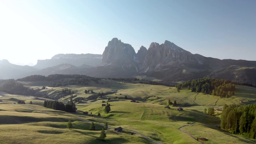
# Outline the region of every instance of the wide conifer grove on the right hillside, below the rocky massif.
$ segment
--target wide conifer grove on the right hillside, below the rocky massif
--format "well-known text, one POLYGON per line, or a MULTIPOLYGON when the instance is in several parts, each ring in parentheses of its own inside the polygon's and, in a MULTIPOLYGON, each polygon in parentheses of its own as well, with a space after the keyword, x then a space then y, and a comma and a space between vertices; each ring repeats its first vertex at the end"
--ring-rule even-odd
POLYGON ((176 85, 176 88, 191 89, 192 92, 202 92, 204 94, 212 94, 214 96, 227 97, 234 95, 236 87, 230 80, 214 79, 214 78, 200 78, 197 80, 188 80, 182 84, 176 85), (233 91, 231 93, 231 91, 233 91))

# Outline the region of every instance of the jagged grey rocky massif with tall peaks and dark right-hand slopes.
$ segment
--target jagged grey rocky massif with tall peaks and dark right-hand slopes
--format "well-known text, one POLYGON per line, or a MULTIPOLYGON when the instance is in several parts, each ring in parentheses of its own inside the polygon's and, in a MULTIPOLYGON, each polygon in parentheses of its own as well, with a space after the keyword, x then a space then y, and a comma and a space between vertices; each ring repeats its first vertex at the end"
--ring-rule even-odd
POLYGON ((98 73, 93 76, 146 75, 167 83, 204 77, 256 82, 256 76, 251 74, 256 69, 255 61, 206 58, 200 54, 191 54, 167 40, 164 44, 152 42, 148 50, 141 46, 136 54, 130 44, 113 38, 105 48, 101 65, 101 70, 97 70, 98 73))

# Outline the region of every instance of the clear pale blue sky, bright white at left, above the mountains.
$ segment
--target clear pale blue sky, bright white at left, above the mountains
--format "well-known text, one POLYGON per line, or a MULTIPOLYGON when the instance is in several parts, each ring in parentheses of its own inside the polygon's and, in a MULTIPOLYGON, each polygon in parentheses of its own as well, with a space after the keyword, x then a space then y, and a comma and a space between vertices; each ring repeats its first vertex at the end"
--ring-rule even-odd
POLYGON ((135 52, 168 40, 192 54, 256 61, 256 1, 0 0, 0 60, 102 54, 112 38, 135 52))

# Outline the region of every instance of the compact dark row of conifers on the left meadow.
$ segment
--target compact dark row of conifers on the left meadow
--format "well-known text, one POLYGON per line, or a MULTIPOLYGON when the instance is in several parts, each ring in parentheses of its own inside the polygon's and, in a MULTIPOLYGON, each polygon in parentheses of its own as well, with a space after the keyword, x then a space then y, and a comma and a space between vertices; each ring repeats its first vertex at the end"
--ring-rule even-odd
POLYGON ((52 108, 54 110, 61 110, 65 112, 76 112, 76 105, 73 102, 68 104, 63 104, 62 102, 49 100, 49 101, 44 101, 44 107, 52 108))

